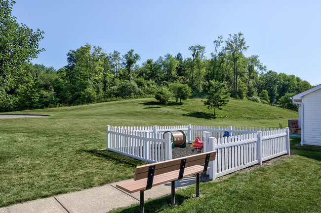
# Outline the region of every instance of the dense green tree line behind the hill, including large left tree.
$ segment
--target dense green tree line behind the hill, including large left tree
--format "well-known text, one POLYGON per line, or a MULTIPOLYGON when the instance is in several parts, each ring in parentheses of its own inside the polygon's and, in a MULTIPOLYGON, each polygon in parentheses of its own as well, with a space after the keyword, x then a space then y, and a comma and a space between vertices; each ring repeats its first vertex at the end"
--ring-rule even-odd
POLYGON ((205 57, 205 46, 198 44, 187 47, 190 55, 186 57, 168 53, 139 63, 141 57, 133 49, 121 55, 117 50, 105 53, 99 46, 85 44, 70 50, 66 65, 58 70, 31 64, 43 51, 38 50, 43 32, 19 26, 11 16, 13 3, 1 0, 1 112, 154 95, 165 90, 172 91, 177 102, 178 88, 205 96, 215 82, 223 84, 231 97, 295 110, 289 97, 311 88, 294 75, 268 71, 257 55, 246 57, 249 46, 241 32, 226 39, 218 36, 209 58, 205 57))

